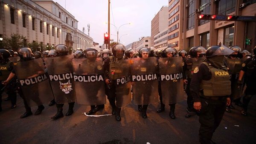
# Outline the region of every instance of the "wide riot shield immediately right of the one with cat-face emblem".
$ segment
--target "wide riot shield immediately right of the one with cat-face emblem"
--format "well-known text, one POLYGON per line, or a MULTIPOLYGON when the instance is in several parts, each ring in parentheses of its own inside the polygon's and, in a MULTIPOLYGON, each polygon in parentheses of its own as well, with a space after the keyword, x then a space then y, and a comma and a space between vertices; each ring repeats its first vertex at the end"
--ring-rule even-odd
POLYGON ((84 105, 106 103, 102 58, 73 58, 76 101, 84 105))

